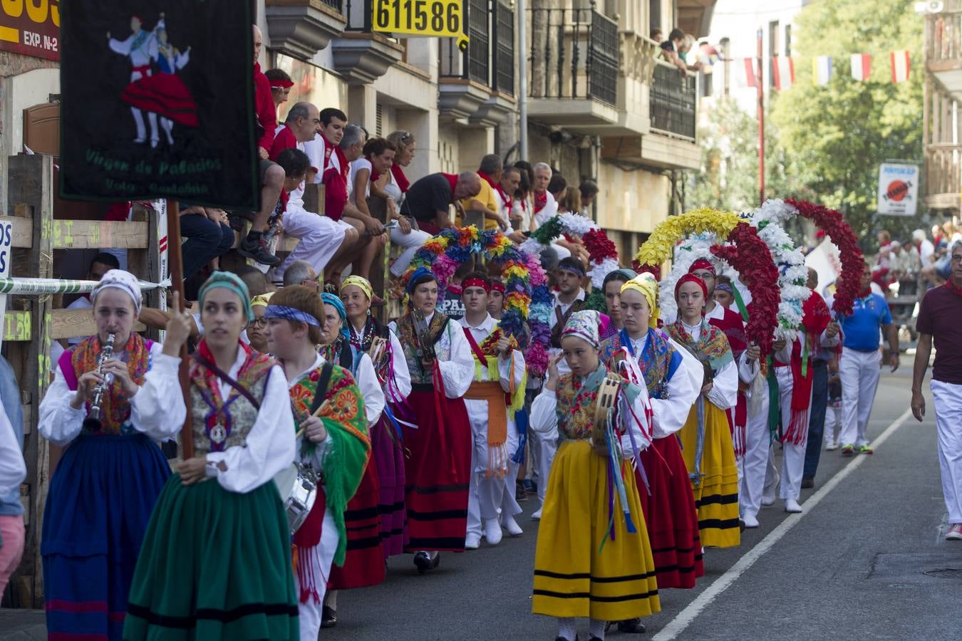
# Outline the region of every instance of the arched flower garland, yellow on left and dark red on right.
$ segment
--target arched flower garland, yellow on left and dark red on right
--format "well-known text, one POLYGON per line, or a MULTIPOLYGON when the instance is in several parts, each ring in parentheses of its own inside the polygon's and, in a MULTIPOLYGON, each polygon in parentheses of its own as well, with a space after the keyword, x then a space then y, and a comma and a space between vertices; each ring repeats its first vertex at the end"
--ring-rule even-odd
MULTIPOLYGON (((776 285, 777 270, 766 243, 736 214, 700 209, 672 216, 660 223, 638 250, 636 258, 642 266, 660 265, 671 258, 675 243, 687 234, 715 234, 726 243, 733 243, 732 246, 715 244, 710 251, 725 259, 740 274, 751 274, 747 286, 751 294, 752 314, 747 334, 758 340, 763 353, 770 352, 772 333, 777 325, 780 293, 776 285)), ((674 296, 673 289, 668 296, 674 296)), ((667 298, 663 297, 663 300, 667 298)))

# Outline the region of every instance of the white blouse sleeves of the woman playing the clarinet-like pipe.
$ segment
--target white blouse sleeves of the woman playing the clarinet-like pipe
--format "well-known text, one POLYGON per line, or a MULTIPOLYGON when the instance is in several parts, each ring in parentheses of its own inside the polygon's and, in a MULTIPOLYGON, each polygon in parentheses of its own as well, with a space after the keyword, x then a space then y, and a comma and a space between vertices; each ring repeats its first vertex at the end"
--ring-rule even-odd
MULTIPOLYGON (((130 400, 130 423, 155 441, 173 438, 184 427, 187 407, 181 392, 177 368, 180 358, 164 354, 164 346, 150 346, 150 365, 143 384, 130 400)), ((75 392, 71 391, 57 368, 54 382, 40 402, 38 430, 48 441, 63 447, 80 435, 87 418, 87 407, 70 407, 75 392)))

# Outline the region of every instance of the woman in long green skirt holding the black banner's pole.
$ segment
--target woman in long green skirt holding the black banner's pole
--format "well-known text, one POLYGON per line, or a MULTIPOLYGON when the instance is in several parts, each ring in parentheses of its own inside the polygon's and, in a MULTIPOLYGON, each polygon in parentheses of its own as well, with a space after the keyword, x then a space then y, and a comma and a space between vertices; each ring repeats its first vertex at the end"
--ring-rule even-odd
POLYGON ((200 290, 190 363, 194 456, 151 516, 124 639, 298 639, 291 531, 274 476, 294 459, 287 379, 240 342, 247 287, 215 272, 200 290))

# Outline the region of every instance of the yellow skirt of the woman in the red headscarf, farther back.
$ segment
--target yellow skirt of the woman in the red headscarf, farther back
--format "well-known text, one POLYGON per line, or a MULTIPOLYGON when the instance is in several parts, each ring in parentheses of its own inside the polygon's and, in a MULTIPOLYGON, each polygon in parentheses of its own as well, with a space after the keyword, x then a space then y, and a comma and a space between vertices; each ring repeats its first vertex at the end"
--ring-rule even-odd
MULTIPOLYGON (((731 431, 724 410, 708 400, 705 404, 705 439, 701 455, 701 476, 692 479, 692 492, 698 511, 701 545, 732 548, 741 543, 738 527, 738 466, 731 431)), ((688 414, 685 426, 678 431, 681 454, 689 474, 695 473, 698 437, 697 405, 688 414)))

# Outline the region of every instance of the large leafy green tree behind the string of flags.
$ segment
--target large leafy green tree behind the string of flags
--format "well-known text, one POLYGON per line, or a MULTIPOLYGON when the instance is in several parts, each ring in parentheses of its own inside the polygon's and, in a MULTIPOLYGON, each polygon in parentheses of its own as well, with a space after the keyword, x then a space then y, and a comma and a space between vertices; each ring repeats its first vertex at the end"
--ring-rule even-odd
POLYGON ((793 177, 790 192, 845 213, 874 249, 875 232, 905 237, 917 218, 879 216, 878 164, 923 158, 922 16, 895 0, 813 2, 797 15, 797 85, 772 100, 772 120, 793 177), (909 80, 892 83, 889 53, 908 49, 909 80), (868 82, 851 77, 851 54, 872 54, 868 82), (831 56, 834 75, 811 82, 815 56, 831 56), (804 192, 808 193, 804 193, 804 192))

